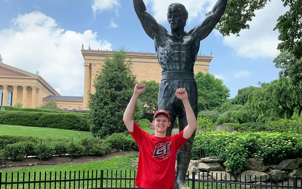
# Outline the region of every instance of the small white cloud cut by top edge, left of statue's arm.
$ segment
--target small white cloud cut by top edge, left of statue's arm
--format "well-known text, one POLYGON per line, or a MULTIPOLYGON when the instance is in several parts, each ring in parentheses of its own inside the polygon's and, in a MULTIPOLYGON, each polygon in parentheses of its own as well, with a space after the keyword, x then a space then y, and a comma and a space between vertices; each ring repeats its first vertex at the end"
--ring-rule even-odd
MULTIPOLYGON (((119 0, 93 0, 93 3, 91 5, 93 14, 96 15, 98 13, 101 13, 102 11, 109 9, 112 10, 113 8, 116 7, 121 7, 121 3, 119 0)), ((116 11, 117 9, 115 9, 115 13, 118 15, 118 11, 116 11)))

